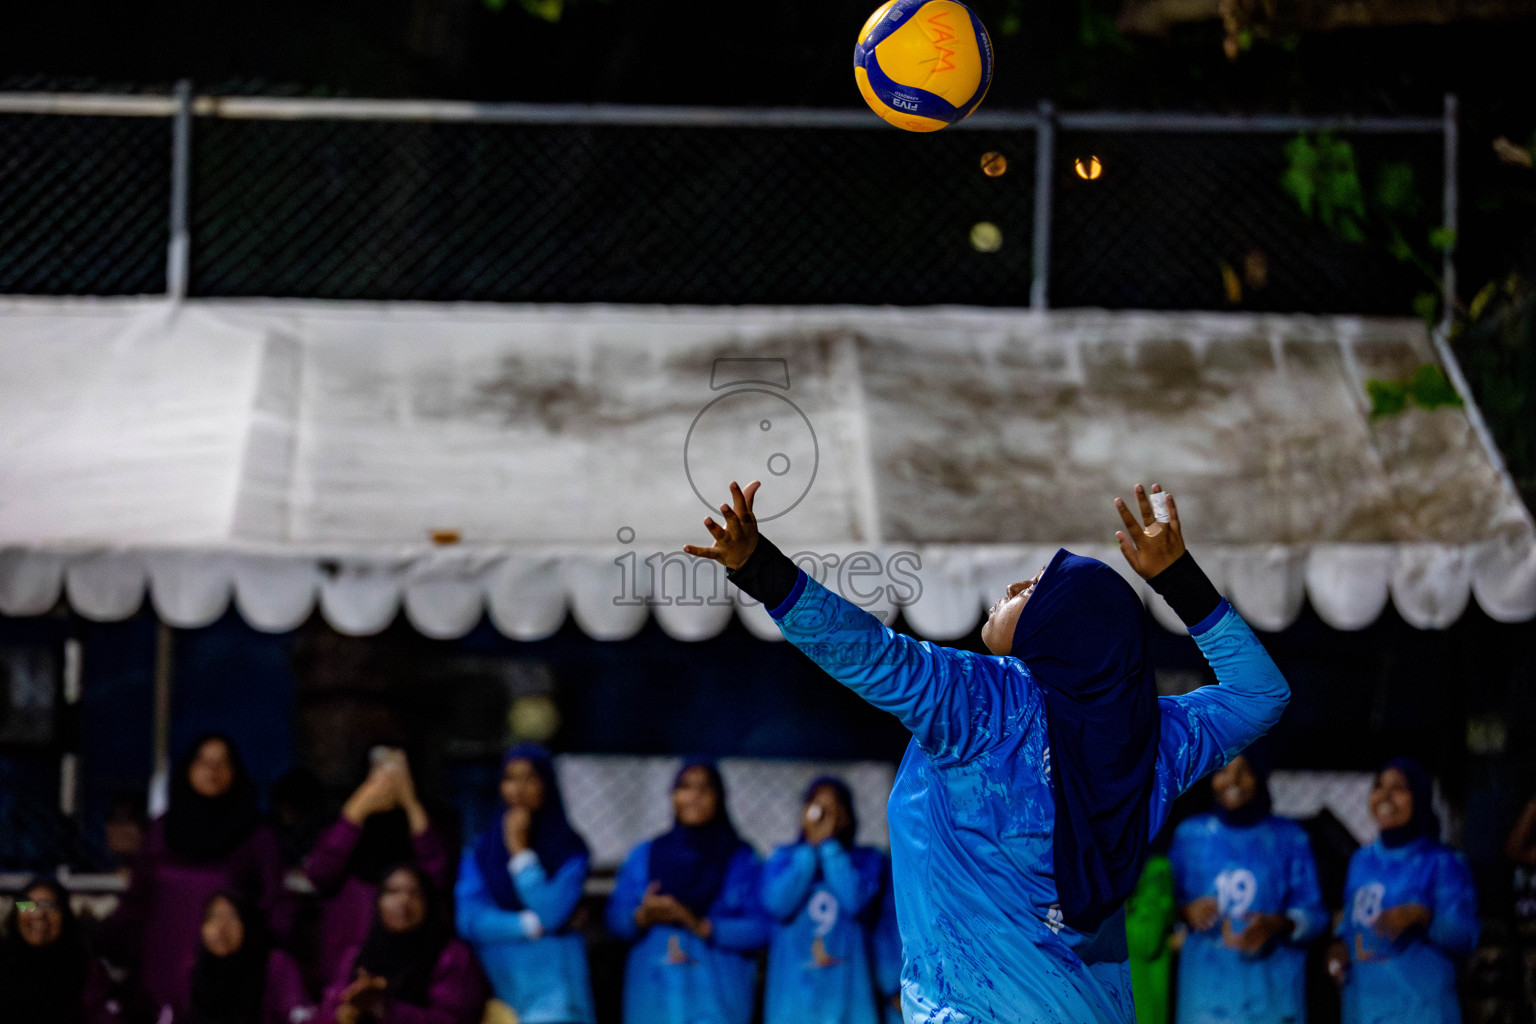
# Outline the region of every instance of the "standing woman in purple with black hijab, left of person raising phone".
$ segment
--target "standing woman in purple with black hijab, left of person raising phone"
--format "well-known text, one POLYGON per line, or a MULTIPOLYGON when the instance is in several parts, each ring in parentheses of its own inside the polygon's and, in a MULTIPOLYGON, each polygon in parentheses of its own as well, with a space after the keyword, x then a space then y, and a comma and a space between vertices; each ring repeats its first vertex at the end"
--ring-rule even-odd
POLYGON ((255 783, 227 737, 204 735, 177 766, 170 806, 101 927, 103 952, 137 970, 154 1006, 189 1009, 203 913, 217 892, 247 900, 267 926, 284 917, 283 861, 255 783))

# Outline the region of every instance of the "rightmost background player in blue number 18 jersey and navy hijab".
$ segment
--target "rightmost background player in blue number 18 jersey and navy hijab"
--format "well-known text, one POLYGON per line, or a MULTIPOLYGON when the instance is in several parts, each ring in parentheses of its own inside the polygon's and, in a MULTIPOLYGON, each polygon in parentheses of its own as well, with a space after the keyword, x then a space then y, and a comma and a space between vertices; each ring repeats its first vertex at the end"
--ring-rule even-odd
POLYGON ((1465 861, 1439 841, 1432 789, 1405 757, 1387 761, 1370 789, 1381 837, 1349 861, 1329 950, 1344 1024, 1461 1024, 1456 975, 1478 946, 1478 900, 1465 861))

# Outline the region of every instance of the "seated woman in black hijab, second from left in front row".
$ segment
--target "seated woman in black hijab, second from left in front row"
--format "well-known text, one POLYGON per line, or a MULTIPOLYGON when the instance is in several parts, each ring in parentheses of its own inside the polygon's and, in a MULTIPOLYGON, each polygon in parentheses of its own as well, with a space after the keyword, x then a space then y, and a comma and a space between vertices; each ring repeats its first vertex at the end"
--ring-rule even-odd
POLYGON ((203 933, 192 966, 192 1006, 184 1019, 189 1024, 304 1024, 312 1016, 315 1006, 304 990, 298 964, 281 949, 272 949, 261 915, 237 895, 215 894, 203 912, 203 933))

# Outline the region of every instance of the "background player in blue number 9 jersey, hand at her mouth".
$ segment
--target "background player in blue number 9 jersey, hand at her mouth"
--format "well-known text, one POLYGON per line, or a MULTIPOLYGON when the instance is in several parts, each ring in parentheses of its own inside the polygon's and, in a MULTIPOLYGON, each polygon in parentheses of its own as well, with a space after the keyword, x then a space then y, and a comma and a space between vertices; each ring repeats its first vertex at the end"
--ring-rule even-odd
POLYGON ((879 915, 885 857, 854 846, 848 785, 822 775, 805 789, 800 838, 763 866, 768 947, 766 1024, 877 1024, 869 927, 879 915), (871 906, 872 904, 872 906, 871 906))

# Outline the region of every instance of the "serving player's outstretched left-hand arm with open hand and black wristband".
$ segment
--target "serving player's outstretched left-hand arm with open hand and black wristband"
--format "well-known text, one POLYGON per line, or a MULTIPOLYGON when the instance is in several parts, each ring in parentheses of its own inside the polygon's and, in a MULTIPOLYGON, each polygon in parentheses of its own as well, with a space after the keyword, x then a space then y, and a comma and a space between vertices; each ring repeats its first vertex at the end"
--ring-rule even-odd
POLYGON ((889 711, 931 757, 962 758, 997 738, 989 723, 1031 703, 1028 680, 1008 685, 997 659, 914 640, 828 591, 757 534, 753 499, 759 484, 731 484, 720 517, 703 520, 708 548, 684 551, 713 559, 730 579, 763 602, 786 640, 828 676, 889 711))

